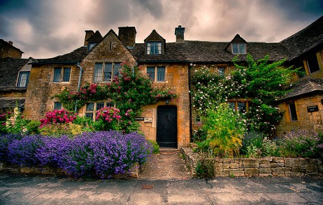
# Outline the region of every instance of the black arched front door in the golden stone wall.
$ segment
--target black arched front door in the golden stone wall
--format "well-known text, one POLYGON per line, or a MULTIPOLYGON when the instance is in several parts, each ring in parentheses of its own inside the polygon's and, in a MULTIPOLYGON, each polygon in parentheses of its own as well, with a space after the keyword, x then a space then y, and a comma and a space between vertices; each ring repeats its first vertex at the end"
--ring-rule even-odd
POLYGON ((177 148, 177 108, 157 107, 157 143, 160 147, 177 148))

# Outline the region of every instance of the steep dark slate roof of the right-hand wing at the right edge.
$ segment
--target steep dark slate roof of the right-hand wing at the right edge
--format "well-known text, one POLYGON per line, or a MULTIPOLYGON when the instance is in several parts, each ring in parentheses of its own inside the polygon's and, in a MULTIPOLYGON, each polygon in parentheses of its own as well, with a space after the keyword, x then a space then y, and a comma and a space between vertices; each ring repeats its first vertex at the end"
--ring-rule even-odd
POLYGON ((289 58, 294 59, 303 53, 323 44, 323 16, 311 25, 289 36, 281 43, 287 48, 289 58))

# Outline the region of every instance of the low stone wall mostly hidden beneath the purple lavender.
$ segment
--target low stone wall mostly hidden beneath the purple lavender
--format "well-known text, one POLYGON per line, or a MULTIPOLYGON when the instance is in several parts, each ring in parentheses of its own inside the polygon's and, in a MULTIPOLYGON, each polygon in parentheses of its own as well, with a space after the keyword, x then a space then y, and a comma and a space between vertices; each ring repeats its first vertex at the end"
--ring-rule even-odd
MULTIPOLYGON (((130 168, 128 174, 115 174, 112 175, 112 178, 138 178, 140 172, 139 163, 135 163, 130 168)), ((0 173, 14 173, 14 174, 32 174, 32 175, 49 175, 49 176, 69 176, 62 169, 53 169, 53 168, 39 168, 39 167, 19 167, 19 166, 10 166, 0 163, 0 173)))

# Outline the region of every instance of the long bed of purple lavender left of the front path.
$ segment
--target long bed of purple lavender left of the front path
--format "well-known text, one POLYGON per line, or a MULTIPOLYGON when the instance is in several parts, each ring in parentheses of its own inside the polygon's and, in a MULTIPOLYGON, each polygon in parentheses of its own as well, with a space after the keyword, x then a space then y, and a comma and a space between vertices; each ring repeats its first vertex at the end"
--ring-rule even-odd
POLYGON ((16 166, 20 172, 38 172, 21 169, 36 167, 58 169, 75 178, 110 178, 115 174, 128 174, 135 164, 145 163, 151 153, 152 146, 138 133, 83 133, 73 139, 67 136, 0 135, 0 162, 16 166))

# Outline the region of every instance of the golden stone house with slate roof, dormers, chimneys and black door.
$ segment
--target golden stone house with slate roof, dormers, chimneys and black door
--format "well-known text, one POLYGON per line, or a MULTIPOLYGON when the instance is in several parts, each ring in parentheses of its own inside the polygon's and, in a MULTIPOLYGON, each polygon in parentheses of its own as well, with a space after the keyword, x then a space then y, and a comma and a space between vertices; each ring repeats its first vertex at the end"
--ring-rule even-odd
MULTIPOLYGON (((304 70, 311 78, 301 79, 294 94, 292 92, 279 101, 285 120, 282 120, 278 131, 282 133, 296 124, 302 124, 301 118, 298 118, 297 123, 289 124, 287 117, 288 107, 295 107, 298 116, 304 113, 300 103, 305 109, 310 107, 311 111, 307 115, 313 116, 304 118, 304 121, 311 121, 313 124, 304 128, 313 127, 318 130, 322 127, 323 110, 322 21, 323 16, 286 40, 274 43, 248 42, 239 34, 230 42, 184 40, 184 27, 181 26, 175 29, 176 42, 167 42, 153 30, 144 43, 140 44, 135 42, 135 27, 119 27, 119 35, 110 30, 104 37, 99 31, 86 31, 84 46, 65 55, 38 59, 32 63, 24 114, 34 120, 42 118, 47 111, 62 107, 59 100, 52 97, 66 87, 70 91, 76 91, 80 77, 80 86, 86 82, 104 85, 117 74, 121 62, 128 61, 131 65, 140 66, 141 72, 154 81, 154 86, 168 88, 178 95, 171 102, 160 101, 156 105, 144 107, 143 114, 139 117, 144 118, 141 121, 141 131, 148 139, 156 140, 160 146, 179 148, 189 143, 190 132, 200 124, 200 119, 191 109, 191 64, 213 66, 215 72, 228 74, 234 69, 233 57, 239 54, 239 59, 244 61, 246 54, 250 53, 256 60, 270 55, 270 61, 286 58, 290 65, 303 63, 304 70), (310 85, 313 87, 308 90, 310 85), (291 99, 298 98, 302 100, 297 101, 294 107, 289 104, 291 99), (307 99, 311 99, 311 102, 307 99), (314 125, 314 122, 318 123, 314 125)), ((78 114, 94 118, 95 111, 110 105, 109 103, 104 99, 88 102, 78 110, 78 114)), ((230 103, 237 108, 248 107, 248 99, 232 99, 230 103)), ((295 112, 292 113, 294 115, 295 112)))

